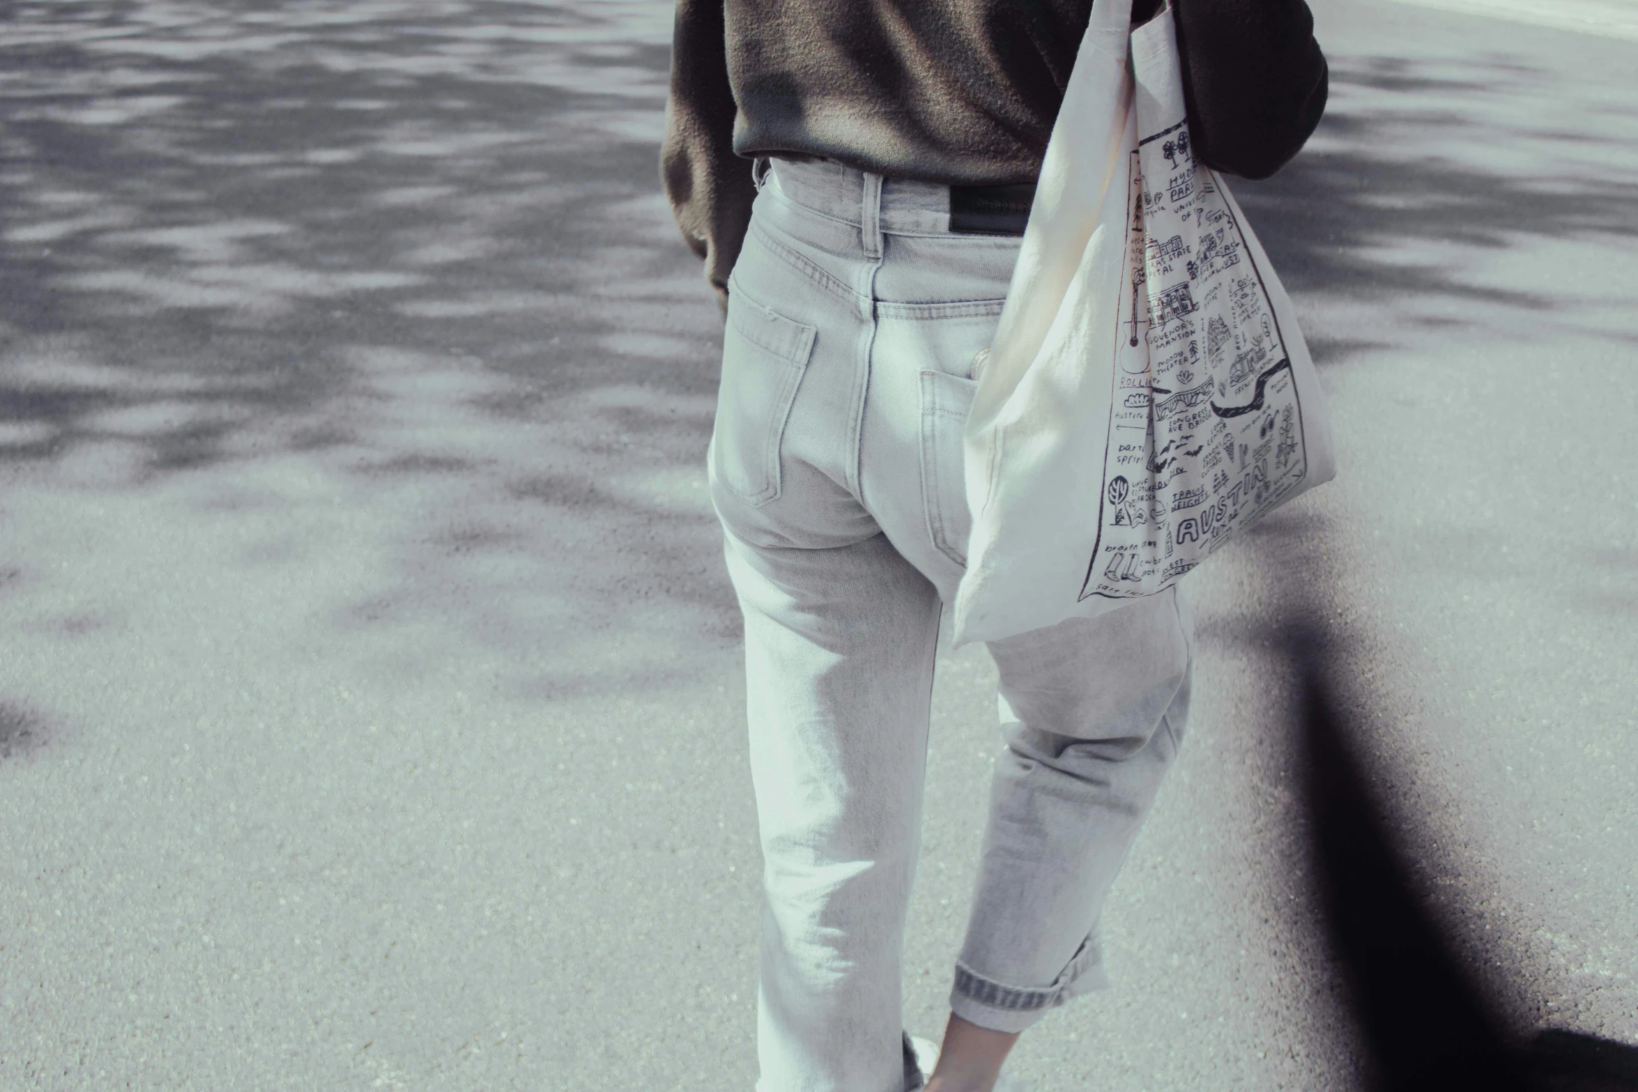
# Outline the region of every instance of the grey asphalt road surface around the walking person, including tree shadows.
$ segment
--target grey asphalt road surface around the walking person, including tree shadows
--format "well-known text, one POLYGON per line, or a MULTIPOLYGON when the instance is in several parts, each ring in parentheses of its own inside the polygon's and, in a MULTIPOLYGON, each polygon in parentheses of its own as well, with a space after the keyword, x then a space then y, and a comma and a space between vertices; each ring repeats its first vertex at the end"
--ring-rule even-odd
MULTIPOLYGON (((1638 1043, 1638 43, 1320 0, 1238 187, 1335 485, 1189 584, 1189 742, 1038 1092, 1330 1090, 1283 622, 1471 971, 1638 1043)), ((649 0, 0 13, 0 1089, 749 1092, 755 814, 649 0)), ((940 663, 906 1020, 999 747, 940 663)))

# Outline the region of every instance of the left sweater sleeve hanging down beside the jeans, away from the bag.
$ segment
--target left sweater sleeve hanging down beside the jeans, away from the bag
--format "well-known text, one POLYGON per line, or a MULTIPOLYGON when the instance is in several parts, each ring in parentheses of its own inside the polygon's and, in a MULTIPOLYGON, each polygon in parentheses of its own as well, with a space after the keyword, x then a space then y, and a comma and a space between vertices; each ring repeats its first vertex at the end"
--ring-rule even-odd
POLYGON ((745 241, 757 187, 750 162, 734 154, 737 108, 722 3, 676 0, 660 177, 683 239, 706 260, 706 280, 727 306, 727 275, 745 241))

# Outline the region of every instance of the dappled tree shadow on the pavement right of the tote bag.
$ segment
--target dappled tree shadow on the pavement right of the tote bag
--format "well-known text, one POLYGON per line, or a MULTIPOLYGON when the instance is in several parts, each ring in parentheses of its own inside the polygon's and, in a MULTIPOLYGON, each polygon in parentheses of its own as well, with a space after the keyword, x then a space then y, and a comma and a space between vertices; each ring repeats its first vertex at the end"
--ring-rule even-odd
MULTIPOLYGON (((1343 54, 1330 82, 1309 147, 1273 178, 1230 182, 1296 298, 1346 301, 1378 323, 1399 305, 1409 319, 1346 334, 1317 323, 1317 363, 1430 326, 1532 329, 1569 323, 1556 313, 1576 303, 1638 303, 1612 296, 1597 270, 1545 285, 1482 270, 1509 250, 1638 239, 1627 157, 1638 108, 1620 88, 1484 54, 1343 54)), ((1590 326, 1631 337, 1615 316, 1590 326)))

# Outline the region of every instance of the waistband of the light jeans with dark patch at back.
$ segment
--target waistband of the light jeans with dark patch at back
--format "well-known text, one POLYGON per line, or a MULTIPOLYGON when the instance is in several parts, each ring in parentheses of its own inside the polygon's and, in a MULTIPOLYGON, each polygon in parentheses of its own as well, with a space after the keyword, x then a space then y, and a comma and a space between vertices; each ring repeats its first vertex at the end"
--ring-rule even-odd
POLYGON ((883 178, 829 159, 757 160, 757 177, 768 164, 780 192, 801 205, 848 224, 875 221, 881 231, 903 234, 1022 236, 1034 185, 952 187, 937 182, 883 178))

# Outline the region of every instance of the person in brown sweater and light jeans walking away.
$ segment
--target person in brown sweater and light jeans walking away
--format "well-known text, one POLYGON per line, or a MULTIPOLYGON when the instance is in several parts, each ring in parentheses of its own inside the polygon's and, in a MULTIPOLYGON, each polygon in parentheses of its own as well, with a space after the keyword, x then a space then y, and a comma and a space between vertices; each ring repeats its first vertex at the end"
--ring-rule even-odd
MULTIPOLYGON (((1307 7, 1173 5, 1192 154, 1271 175, 1325 106, 1307 7)), ((924 1087, 901 964, 962 429, 1089 11, 676 5, 662 177, 726 313, 708 473, 745 617, 758 1092, 924 1087)), ((1025 1028, 1107 982, 1104 897, 1188 720, 1176 589, 989 652, 1006 747, 929 1092, 989 1092, 1025 1028)))

